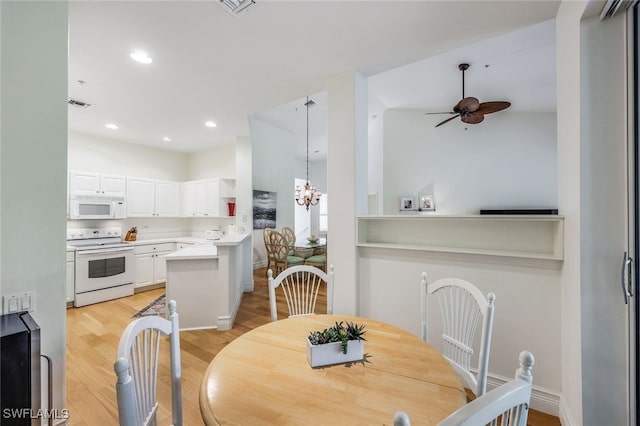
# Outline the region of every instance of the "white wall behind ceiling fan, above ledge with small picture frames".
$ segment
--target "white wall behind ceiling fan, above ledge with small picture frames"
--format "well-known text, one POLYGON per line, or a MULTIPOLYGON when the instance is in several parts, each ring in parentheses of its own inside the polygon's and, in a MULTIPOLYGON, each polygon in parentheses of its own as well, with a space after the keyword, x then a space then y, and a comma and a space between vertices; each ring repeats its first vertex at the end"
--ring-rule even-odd
POLYGON ((384 214, 399 197, 432 193, 438 214, 481 208, 557 208, 556 116, 491 114, 478 125, 423 110, 384 113, 384 214))

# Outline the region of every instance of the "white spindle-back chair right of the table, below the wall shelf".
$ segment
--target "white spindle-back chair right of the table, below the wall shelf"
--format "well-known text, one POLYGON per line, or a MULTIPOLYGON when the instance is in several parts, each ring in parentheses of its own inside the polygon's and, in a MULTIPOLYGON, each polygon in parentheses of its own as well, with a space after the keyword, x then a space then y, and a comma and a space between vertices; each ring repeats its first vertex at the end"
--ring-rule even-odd
POLYGON ((473 284, 459 278, 442 278, 427 284, 427 274, 422 273, 422 338, 429 341, 428 296, 436 294, 442 316, 442 354, 449 360, 476 397, 487 389, 491 332, 495 294, 487 297, 473 284), (480 352, 477 374, 471 370, 473 340, 479 321, 482 320, 480 352))

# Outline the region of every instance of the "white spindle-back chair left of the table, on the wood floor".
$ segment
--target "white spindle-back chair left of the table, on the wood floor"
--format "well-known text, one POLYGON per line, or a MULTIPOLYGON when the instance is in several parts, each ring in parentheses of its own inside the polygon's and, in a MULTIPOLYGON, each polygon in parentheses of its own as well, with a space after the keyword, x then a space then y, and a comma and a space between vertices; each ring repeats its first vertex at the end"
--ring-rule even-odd
POLYGON ((176 302, 169 301, 169 319, 147 316, 133 320, 120 336, 114 370, 120 426, 157 424, 160 340, 169 336, 172 425, 182 425, 180 332, 176 302))

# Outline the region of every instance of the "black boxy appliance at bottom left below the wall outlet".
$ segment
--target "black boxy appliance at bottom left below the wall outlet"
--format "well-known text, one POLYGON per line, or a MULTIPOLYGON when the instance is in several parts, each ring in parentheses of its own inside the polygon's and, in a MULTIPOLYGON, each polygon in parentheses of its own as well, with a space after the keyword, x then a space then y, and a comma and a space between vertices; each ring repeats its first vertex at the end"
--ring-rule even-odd
POLYGON ((0 423, 30 426, 40 409, 40 327, 28 312, 2 315, 0 339, 0 423))

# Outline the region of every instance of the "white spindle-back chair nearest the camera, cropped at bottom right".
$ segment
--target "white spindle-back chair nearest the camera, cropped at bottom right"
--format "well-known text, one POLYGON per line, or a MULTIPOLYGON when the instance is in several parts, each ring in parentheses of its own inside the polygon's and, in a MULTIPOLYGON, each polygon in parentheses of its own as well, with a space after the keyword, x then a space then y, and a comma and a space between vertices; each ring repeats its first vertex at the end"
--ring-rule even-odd
MULTIPOLYGON (((459 408, 438 426, 526 426, 531 401, 534 358, 531 352, 520 352, 520 367, 514 380, 474 399, 459 408)), ((409 426, 409 416, 398 411, 393 416, 394 426, 409 426)))

